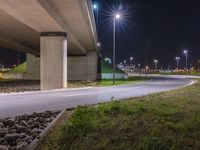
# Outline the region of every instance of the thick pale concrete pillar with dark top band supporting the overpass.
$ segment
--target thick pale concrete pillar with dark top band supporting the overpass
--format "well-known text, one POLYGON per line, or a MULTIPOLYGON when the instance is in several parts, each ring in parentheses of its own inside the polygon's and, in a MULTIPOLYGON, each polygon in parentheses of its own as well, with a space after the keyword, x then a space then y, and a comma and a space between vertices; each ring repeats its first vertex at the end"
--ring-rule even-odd
POLYGON ((64 32, 40 35, 41 90, 67 87, 67 38, 64 32))

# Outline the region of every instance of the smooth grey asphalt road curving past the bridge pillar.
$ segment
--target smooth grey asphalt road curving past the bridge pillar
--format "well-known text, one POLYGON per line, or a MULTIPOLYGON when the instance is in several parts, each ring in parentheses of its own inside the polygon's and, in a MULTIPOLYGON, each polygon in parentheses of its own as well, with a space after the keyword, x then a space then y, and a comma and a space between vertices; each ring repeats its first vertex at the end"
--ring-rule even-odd
POLYGON ((121 86, 0 94, 0 118, 96 104, 110 101, 113 96, 115 99, 143 96, 190 84, 192 84, 192 81, 189 79, 159 77, 121 86))

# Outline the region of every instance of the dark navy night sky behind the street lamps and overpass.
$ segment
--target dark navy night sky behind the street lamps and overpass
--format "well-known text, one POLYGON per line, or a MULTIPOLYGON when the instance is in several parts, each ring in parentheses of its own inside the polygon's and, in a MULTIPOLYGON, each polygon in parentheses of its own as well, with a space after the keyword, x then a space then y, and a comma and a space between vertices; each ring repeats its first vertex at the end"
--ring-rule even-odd
MULTIPOLYGON (((175 66, 175 56, 185 59, 182 50, 189 50, 189 62, 200 59, 200 2, 194 0, 94 0, 99 5, 99 39, 104 57, 112 56, 111 12, 119 9, 124 19, 117 25, 117 63, 134 57, 135 63, 148 65, 159 60, 160 67, 175 66), (146 42, 146 41, 149 42, 146 42)), ((21 54, 22 55, 22 54, 21 54)), ((0 63, 17 63, 18 53, 0 50, 0 63)), ((24 59, 25 55, 21 58, 24 59)))

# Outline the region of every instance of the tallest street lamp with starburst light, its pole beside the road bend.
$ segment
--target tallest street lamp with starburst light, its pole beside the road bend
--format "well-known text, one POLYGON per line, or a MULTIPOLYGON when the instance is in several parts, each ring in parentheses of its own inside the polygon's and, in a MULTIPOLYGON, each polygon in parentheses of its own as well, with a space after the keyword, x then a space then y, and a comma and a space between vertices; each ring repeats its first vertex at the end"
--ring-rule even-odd
POLYGON ((120 19, 120 14, 116 13, 113 16, 113 84, 115 84, 115 27, 116 27, 116 21, 120 19))

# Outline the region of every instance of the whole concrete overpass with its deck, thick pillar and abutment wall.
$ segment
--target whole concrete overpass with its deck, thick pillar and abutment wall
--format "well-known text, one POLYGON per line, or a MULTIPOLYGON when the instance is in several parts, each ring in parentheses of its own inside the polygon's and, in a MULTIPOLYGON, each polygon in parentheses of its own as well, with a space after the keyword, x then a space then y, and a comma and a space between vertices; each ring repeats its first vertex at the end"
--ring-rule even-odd
POLYGON ((41 89, 96 80, 97 33, 91 0, 0 0, 0 47, 27 53, 26 79, 41 89))

